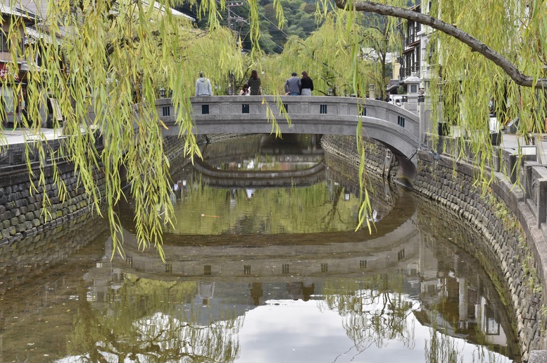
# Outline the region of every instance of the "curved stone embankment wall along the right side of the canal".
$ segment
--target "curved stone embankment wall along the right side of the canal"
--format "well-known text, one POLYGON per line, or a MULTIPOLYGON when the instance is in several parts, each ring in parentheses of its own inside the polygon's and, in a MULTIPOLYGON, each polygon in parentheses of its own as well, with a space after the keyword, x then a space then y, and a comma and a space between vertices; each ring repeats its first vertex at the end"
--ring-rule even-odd
MULTIPOLYGON (((354 168, 358 168, 355 137, 329 136, 324 141, 325 151, 346 154, 354 168)), ((383 167, 381 158, 385 148, 376 142, 370 147, 367 169, 377 172, 382 170, 379 166, 383 167)), ((542 312, 542 308, 546 308, 542 293, 543 269, 539 266, 536 247, 542 236, 532 230, 535 222, 527 204, 522 202, 524 192, 501 173, 493 173, 493 183, 483 190, 474 183, 477 170, 465 161, 455 162, 450 156, 433 156, 430 152, 419 152, 417 156, 415 192, 482 236, 473 248, 460 247, 482 263, 506 308, 513 312, 516 321, 512 326, 519 338, 522 359, 527 361, 530 352, 546 348, 542 312)))

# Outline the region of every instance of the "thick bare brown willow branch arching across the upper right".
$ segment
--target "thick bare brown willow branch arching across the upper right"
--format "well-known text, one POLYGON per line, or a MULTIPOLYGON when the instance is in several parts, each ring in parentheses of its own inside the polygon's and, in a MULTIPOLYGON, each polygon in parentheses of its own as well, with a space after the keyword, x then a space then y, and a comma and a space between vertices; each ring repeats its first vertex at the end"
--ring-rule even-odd
POLYGON ((499 54, 497 51, 494 51, 493 49, 488 47, 483 42, 475 39, 467 32, 458 29, 458 27, 445 23, 444 21, 434 18, 432 16, 428 16, 426 14, 405 8, 377 4, 370 1, 355 1, 353 3, 349 3, 346 0, 336 0, 336 4, 338 8, 341 9, 369 11, 384 16, 394 16, 396 18, 413 20, 417 23, 428 25, 429 27, 444 32, 446 35, 458 39, 460 42, 467 44, 469 47, 471 47, 473 51, 477 51, 479 54, 485 56, 486 59, 493 61, 493 63, 502 68, 503 71, 507 73, 507 75, 509 75, 509 77, 513 81, 515 81, 517 85, 521 85, 524 87, 535 87, 538 89, 547 88, 547 78, 538 78, 534 80, 532 76, 524 75, 524 73, 518 70, 518 68, 513 63, 508 61, 508 59, 499 54))

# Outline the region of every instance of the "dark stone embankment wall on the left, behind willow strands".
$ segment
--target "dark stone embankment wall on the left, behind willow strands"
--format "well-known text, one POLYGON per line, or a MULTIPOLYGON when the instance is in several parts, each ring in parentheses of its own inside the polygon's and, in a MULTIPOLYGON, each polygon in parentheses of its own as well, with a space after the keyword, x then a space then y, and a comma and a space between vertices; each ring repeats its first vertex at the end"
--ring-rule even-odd
MULTIPOLYGON (((55 151, 61 147, 59 143, 54 140, 49 147, 55 151)), ((170 159, 180 154, 181 143, 177 137, 166 138, 164 149, 170 159)), ((25 152, 24 145, 15 145, 2 149, 0 154, 0 261, 13 257, 14 243, 92 213, 94 208, 68 161, 57 160, 60 178, 56 180, 51 162, 41 170, 39 162, 31 156, 32 173, 42 175, 45 180, 39 185, 37 178, 33 178, 35 188, 32 187, 25 152), (63 184, 65 198, 58 193, 59 185, 63 184)), ((97 169, 94 178, 98 194, 104 195, 103 172, 97 169)))

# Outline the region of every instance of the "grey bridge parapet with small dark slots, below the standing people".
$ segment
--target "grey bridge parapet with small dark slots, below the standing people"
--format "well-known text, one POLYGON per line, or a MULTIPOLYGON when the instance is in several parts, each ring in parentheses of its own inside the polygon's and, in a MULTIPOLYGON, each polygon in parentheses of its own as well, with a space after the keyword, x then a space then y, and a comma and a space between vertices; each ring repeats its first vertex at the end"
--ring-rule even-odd
MULTIPOLYGON (((375 123, 382 121, 387 125, 399 129, 401 133, 418 137, 420 133, 419 118, 394 104, 375 99, 359 99, 356 97, 315 97, 315 96, 282 96, 282 104, 277 105, 272 96, 214 96, 192 97, 192 119, 196 124, 196 133, 233 133, 237 123, 227 121, 237 120, 243 123, 246 130, 237 132, 268 133, 271 125, 268 121, 268 108, 282 128, 282 133, 302 133, 294 130, 284 121, 287 113, 294 123, 313 123, 320 126, 321 123, 338 123, 342 128, 332 130, 331 133, 342 135, 355 135, 358 118, 363 118, 363 123, 375 123), (222 127, 219 121, 225 120, 222 127), (207 121, 215 123, 215 129, 206 128, 207 121), (215 122, 216 121, 216 122, 215 122), (256 122, 259 121, 258 124, 256 122), (249 126, 256 127, 249 130, 249 126), (266 127, 264 127, 264 125, 266 127), (347 129, 347 127, 351 129, 347 129), (203 130, 206 128, 207 130, 203 130), (252 129, 259 130, 252 130, 252 129)), ((175 123, 175 109, 171 99, 158 99, 156 109, 162 121, 166 125, 175 123)), ((328 124, 327 124, 328 125, 328 124)), ((325 127, 323 127, 325 128, 325 127)), ((365 128, 366 131, 366 128, 365 128)), ((319 132, 317 132, 319 133, 319 132)))

